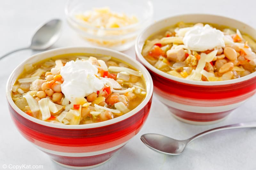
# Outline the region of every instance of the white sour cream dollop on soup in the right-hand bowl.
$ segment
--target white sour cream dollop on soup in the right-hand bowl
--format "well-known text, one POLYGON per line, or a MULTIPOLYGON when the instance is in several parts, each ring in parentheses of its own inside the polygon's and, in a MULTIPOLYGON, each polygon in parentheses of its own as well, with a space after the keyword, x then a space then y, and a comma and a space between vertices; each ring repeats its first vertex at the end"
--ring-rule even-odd
POLYGON ((224 34, 208 24, 203 26, 193 26, 183 37, 183 43, 190 50, 205 51, 217 46, 225 47, 224 34))

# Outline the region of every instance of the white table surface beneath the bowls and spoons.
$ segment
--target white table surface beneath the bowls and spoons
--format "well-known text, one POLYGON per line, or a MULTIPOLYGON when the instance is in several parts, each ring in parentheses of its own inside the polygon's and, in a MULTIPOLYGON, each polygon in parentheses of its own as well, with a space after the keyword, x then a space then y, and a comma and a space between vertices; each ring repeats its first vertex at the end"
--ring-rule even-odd
MULTIPOLYGON (((87 44, 80 40, 67 25, 64 14, 65 4, 66 0, 1 0, 0 56, 12 49, 26 47, 36 28, 52 18, 63 20, 62 35, 52 48, 86 46, 87 44)), ((253 0, 153 0, 153 4, 154 20, 183 13, 210 13, 235 18, 256 27, 256 1, 253 0)), ((35 53, 32 50, 24 50, 0 60, 0 169, 4 164, 10 165, 9 167, 24 164, 43 165, 45 170, 66 169, 54 163, 45 153, 32 146, 20 135, 7 108, 5 98, 7 78, 20 62, 35 53)), ((135 58, 133 47, 124 53, 135 58)), ((140 136, 144 133, 160 133, 185 139, 214 127, 255 120, 255 100, 256 95, 220 123, 196 126, 176 120, 167 107, 153 97, 148 120, 141 131, 116 152, 112 159, 94 169, 256 169, 254 158, 256 129, 238 129, 210 134, 188 145, 185 152, 179 156, 166 156, 153 152, 140 141, 140 136)))

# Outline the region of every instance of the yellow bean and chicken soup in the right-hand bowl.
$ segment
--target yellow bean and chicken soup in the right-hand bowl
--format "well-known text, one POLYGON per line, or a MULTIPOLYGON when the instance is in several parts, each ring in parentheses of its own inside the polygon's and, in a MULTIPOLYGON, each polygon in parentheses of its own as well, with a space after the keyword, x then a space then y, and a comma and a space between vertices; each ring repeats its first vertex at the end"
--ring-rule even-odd
MULTIPOLYGON (((198 24, 204 26, 206 23, 198 24)), ((255 71, 255 41, 249 35, 242 34, 242 37, 239 37, 235 29, 231 29, 227 26, 220 26, 217 24, 209 25, 213 28, 222 31, 225 36, 230 36, 234 41, 233 45, 226 44, 224 48, 215 47, 213 49, 209 49, 206 51, 194 51, 186 47, 183 47, 181 51, 184 55, 184 60, 175 61, 172 58, 170 59, 170 57, 168 58, 167 51, 170 52, 170 50, 175 48, 177 49, 177 47, 181 47, 182 45, 184 46, 184 44, 178 41, 172 43, 164 43, 163 39, 166 39, 167 37, 178 37, 178 35, 176 35, 175 30, 177 31, 180 28, 192 27, 194 25, 195 24, 193 23, 179 22, 173 26, 166 27, 152 34, 144 43, 141 52, 142 55, 151 65, 156 67, 158 70, 164 71, 165 73, 175 77, 189 79, 191 77, 190 75, 192 75, 193 70, 196 70, 198 66, 197 64, 200 60, 200 55, 202 53, 207 55, 214 50, 218 50, 217 55, 212 59, 212 61, 205 63, 204 70, 207 73, 204 71, 204 74, 202 74, 201 79, 198 79, 199 81, 230 80, 246 76, 255 71), (244 47, 238 47, 238 45, 241 46, 241 44, 244 47), (235 59, 231 60, 230 57, 224 53, 224 51, 230 50, 229 47, 232 48, 232 52, 236 53, 235 59), (227 48, 229 49, 225 50, 227 48), (247 56, 249 54, 246 54, 244 52, 244 49, 252 50, 251 52, 253 57, 249 56, 251 60, 248 59, 247 56), (220 69, 222 66, 223 68, 220 69)))

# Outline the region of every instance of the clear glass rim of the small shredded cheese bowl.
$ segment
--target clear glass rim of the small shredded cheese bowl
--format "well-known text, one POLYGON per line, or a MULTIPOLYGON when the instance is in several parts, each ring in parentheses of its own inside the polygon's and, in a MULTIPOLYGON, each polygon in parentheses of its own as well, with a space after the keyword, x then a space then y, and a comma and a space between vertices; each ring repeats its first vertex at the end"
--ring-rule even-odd
POLYGON ((71 1, 72 0, 68 0, 67 4, 65 5, 65 14, 66 14, 67 19, 70 19, 72 22, 74 22, 78 26, 83 26, 85 28, 90 28, 90 29, 94 29, 94 30, 118 31, 118 30, 131 29, 131 28, 140 26, 141 24, 143 25, 143 23, 147 23, 148 21, 150 21, 152 16, 153 16, 153 13, 154 13, 154 7, 153 7, 153 4, 152 4, 151 0, 144 0, 145 2, 147 2, 145 4, 147 4, 147 6, 148 6, 147 11, 149 12, 147 19, 145 19, 143 21, 139 20, 139 22, 137 22, 135 24, 128 25, 128 26, 123 26, 123 27, 119 27, 119 28, 97 28, 97 27, 94 27, 94 26, 90 26, 88 24, 77 22, 73 17, 70 16, 70 11, 72 11, 72 10, 68 10, 68 7, 69 7, 69 4, 71 3, 71 1))

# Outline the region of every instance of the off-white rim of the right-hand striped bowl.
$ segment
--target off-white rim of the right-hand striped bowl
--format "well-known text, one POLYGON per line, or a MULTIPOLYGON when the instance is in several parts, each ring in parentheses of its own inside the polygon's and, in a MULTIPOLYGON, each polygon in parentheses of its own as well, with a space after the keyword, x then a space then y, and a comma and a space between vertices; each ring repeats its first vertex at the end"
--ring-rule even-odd
MULTIPOLYGON (((246 80, 249 80, 253 77, 256 77, 256 71, 254 71, 253 73, 246 75, 244 77, 241 78, 236 78, 236 79, 231 79, 231 80, 222 80, 222 81, 196 81, 196 80, 189 80, 189 79, 185 79, 185 78, 178 78, 172 75, 169 75, 161 70, 156 69, 153 65, 151 65, 150 63, 148 63, 148 61, 142 56, 141 52, 139 51, 140 48, 140 42, 142 41, 142 36, 145 32, 148 31, 149 28, 155 26, 157 29, 154 31, 154 33, 156 33, 157 31, 163 29, 162 27, 157 27, 157 25, 161 22, 163 22, 164 20, 168 20, 171 18, 175 18, 175 17, 186 17, 186 16, 191 16, 191 15, 206 15, 206 16, 213 16, 213 17, 220 17, 220 18, 225 18, 227 20, 233 20, 235 22, 239 22, 240 24, 243 24, 244 26, 248 26, 252 29, 255 30, 255 28, 253 28, 252 26, 249 26, 239 20, 233 19, 233 18, 229 18, 229 17, 225 17, 225 16, 221 16, 221 15, 214 15, 214 14, 205 14, 205 13, 188 13, 188 14, 181 14, 181 15, 174 15, 174 16, 169 16, 166 18, 163 18, 161 20, 158 20, 152 24, 150 24, 149 26, 147 26, 137 37, 136 41, 135 41, 135 52, 136 52, 136 56, 138 57, 138 59, 140 60, 140 62, 147 67, 150 71, 155 72, 156 74, 173 80, 173 81, 177 81, 180 83, 184 83, 184 84, 189 84, 189 85, 203 85, 203 86, 212 86, 212 85, 231 85, 231 84, 235 84, 235 83, 239 83, 239 82, 243 82, 246 80)), ((173 23, 174 24, 174 23, 173 23)), ((215 23, 214 23, 215 24, 215 23)), ((170 24, 171 25, 171 24, 170 24)), ((256 30, 255 30, 256 32, 256 30)), ((154 34, 152 33, 152 34, 154 34)), ((152 35, 151 34, 151 35, 152 35)), ((146 40, 146 39, 145 39, 146 40)), ((145 42, 145 40, 143 40, 143 42, 145 42)), ((143 43, 144 44, 144 43, 143 43)))

